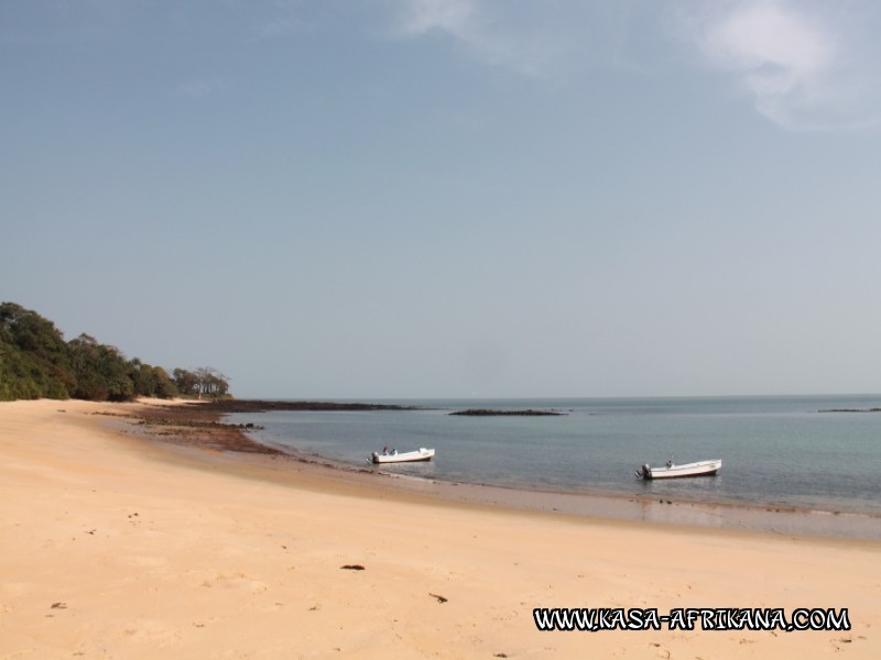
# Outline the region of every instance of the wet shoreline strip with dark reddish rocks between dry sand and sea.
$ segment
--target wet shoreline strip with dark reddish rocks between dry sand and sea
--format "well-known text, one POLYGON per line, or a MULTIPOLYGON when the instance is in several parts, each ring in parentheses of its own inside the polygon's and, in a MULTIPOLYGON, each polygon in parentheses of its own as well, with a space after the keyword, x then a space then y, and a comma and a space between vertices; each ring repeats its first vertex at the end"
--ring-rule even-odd
MULTIPOLYGON (((166 436, 156 432, 177 420, 180 424, 202 421, 217 425, 202 437, 174 438, 173 442, 196 447, 233 450, 249 454, 265 453, 286 460, 292 469, 312 471, 315 476, 333 475, 360 484, 367 492, 374 488, 398 490, 443 501, 485 504, 514 510, 533 510, 598 519, 616 519, 656 525, 697 526, 717 529, 744 529, 801 536, 855 538, 881 540, 881 516, 840 510, 811 509, 775 503, 742 504, 733 502, 697 501, 684 497, 640 495, 612 492, 559 492, 494 484, 465 483, 434 477, 395 474, 394 468, 359 468, 319 454, 308 454, 290 447, 262 442, 260 431, 248 431, 240 425, 222 425, 230 414, 262 413, 268 409, 334 410, 349 409, 409 409, 381 406, 368 408, 362 404, 327 402, 264 402, 218 400, 192 403, 184 406, 163 407, 157 404, 143 416, 148 427, 144 437, 162 441, 166 436), (168 418, 171 417, 171 418, 168 418), (151 429, 151 422, 153 428, 151 429), (211 438, 222 437, 222 441, 211 438), (388 477, 378 481, 378 477, 388 477)), ((259 418, 255 418, 259 420, 259 418)), ((185 429, 186 427, 178 427, 185 429)))

